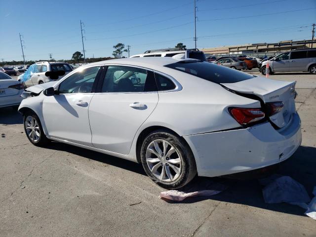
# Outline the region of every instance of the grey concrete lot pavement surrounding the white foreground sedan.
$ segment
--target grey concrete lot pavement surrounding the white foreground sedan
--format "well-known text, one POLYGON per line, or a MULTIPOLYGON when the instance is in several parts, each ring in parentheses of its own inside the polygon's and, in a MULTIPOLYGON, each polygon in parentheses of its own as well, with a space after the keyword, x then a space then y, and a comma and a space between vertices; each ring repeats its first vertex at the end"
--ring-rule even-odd
MULTIPOLYGON (((303 184, 312 197, 316 77, 269 78, 298 81, 302 146, 277 173, 303 184)), ((255 179, 197 178, 193 189, 211 181, 229 188, 212 197, 166 202, 141 164, 57 142, 31 145, 12 109, 0 109, 0 133, 5 134, 0 137, 1 236, 316 236, 316 222, 304 209, 264 203, 255 179)))

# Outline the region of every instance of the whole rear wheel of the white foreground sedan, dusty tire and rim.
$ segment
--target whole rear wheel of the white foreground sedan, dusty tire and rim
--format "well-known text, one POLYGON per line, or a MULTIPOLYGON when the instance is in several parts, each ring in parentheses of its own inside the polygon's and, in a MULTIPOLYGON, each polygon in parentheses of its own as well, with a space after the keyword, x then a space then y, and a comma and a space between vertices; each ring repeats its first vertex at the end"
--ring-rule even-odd
POLYGON ((143 140, 140 155, 146 174, 162 188, 179 189, 197 175, 190 147, 168 130, 160 129, 148 134, 143 140))

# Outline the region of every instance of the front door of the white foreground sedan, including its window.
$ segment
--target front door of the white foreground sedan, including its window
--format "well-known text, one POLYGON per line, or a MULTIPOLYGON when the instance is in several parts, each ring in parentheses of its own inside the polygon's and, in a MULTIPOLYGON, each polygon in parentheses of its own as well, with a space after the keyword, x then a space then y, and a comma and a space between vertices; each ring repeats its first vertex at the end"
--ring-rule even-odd
POLYGON ((43 118, 49 136, 92 146, 88 108, 99 69, 90 67, 70 75, 59 83, 57 94, 44 98, 43 118))

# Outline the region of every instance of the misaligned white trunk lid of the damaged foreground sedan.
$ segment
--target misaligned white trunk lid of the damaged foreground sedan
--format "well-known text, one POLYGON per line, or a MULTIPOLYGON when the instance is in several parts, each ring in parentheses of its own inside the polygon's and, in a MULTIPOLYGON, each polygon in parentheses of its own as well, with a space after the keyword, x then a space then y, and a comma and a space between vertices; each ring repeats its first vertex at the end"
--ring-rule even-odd
MULTIPOLYGON (((284 127, 296 112, 295 108, 295 84, 294 82, 255 77, 235 83, 221 83, 225 87, 241 94, 249 94, 259 97, 264 104, 281 101, 283 109, 270 116, 270 121, 277 127, 284 127)), ((265 109, 265 108, 263 108, 265 109)))

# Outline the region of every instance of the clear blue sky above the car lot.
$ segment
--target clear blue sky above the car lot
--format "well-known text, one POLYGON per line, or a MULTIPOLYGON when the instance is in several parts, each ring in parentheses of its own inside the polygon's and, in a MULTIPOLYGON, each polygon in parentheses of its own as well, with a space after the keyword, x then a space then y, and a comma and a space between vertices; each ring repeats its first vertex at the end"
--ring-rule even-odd
MULTIPOLYGON (((86 57, 112 56, 118 42, 131 45, 131 55, 178 42, 193 48, 193 2, 0 0, 0 59, 22 59, 19 33, 26 60, 49 59, 49 53, 71 59, 82 50, 80 20, 86 57)), ((197 8, 197 48, 309 40, 316 23, 316 0, 197 0, 197 8)))

